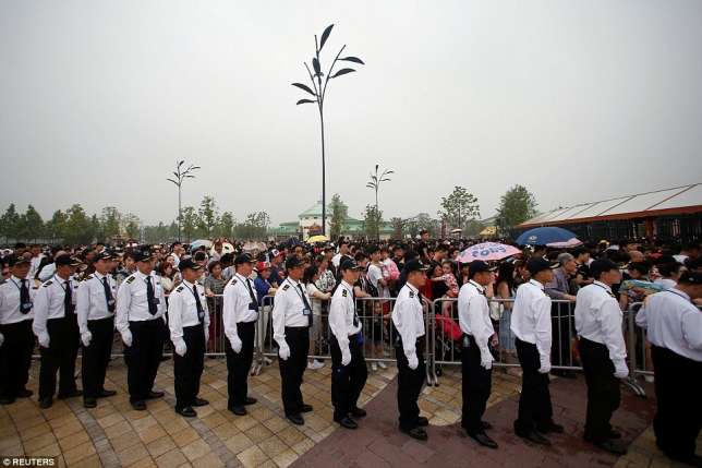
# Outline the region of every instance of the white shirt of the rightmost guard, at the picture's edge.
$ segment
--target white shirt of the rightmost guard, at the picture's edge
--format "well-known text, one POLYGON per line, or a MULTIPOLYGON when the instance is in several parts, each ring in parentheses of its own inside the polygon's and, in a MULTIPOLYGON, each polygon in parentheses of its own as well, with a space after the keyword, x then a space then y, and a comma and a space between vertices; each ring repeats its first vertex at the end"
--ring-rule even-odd
POLYGON ((676 355, 702 362, 702 311, 679 289, 649 296, 637 314, 649 341, 676 355))

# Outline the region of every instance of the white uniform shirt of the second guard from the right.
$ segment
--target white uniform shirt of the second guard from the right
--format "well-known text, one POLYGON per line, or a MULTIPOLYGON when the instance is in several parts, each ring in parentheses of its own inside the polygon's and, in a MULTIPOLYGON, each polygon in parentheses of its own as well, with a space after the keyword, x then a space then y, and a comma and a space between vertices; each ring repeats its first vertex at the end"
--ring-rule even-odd
POLYGON ((627 347, 621 331, 621 309, 604 283, 594 281, 578 291, 576 298, 578 336, 605 345, 617 370, 627 368, 627 347))

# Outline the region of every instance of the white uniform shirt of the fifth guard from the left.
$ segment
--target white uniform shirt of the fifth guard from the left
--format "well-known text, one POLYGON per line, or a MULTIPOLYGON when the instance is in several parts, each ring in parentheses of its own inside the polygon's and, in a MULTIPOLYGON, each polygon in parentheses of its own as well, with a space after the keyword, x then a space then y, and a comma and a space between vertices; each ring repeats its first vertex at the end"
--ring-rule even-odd
POLYGON ((209 312, 207 310, 207 298, 205 288, 199 284, 183 280, 173 292, 168 296, 168 327, 171 331, 171 340, 178 343, 183 339, 183 328, 199 324, 197 301, 195 293, 199 297, 203 307, 203 333, 209 326, 209 312))

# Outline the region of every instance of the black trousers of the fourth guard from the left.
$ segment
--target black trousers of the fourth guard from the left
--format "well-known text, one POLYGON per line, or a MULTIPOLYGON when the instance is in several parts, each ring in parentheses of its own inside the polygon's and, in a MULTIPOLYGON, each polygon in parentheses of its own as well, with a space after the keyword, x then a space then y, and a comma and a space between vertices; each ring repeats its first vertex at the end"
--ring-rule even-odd
POLYGON ((165 327, 161 317, 130 322, 132 346, 124 347, 124 362, 131 403, 145 400, 154 388, 164 356, 165 327))

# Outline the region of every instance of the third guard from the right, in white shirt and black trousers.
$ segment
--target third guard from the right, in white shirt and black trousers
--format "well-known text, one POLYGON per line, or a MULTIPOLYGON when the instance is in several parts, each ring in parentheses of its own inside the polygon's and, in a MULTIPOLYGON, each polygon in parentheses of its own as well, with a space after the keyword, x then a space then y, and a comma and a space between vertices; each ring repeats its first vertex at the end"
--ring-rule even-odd
POLYGON ((552 322, 550 298, 544 292, 544 286, 553 280, 555 266, 541 256, 526 262, 531 279, 517 289, 510 326, 522 367, 522 392, 515 433, 543 445, 550 445, 550 441, 542 434, 564 432, 562 425, 553 420, 548 392, 552 322))

